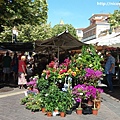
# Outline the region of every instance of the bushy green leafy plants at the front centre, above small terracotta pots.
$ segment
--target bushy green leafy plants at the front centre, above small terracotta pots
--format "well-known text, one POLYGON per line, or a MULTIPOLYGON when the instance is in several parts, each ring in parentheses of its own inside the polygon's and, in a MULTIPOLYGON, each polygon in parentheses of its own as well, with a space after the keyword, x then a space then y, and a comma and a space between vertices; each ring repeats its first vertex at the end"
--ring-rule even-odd
POLYGON ((63 92, 52 84, 47 90, 40 92, 42 105, 47 111, 53 111, 58 108, 59 111, 66 111, 73 106, 73 97, 70 92, 63 92))

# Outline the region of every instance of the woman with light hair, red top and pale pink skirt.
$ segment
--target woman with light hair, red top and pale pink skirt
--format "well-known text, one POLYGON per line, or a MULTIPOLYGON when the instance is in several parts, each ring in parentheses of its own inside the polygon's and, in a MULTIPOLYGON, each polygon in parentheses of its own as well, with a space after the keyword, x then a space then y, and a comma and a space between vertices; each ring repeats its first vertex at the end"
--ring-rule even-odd
POLYGON ((18 85, 19 88, 23 88, 24 85, 27 84, 27 80, 25 78, 26 74, 26 56, 21 56, 21 60, 18 63, 18 85))

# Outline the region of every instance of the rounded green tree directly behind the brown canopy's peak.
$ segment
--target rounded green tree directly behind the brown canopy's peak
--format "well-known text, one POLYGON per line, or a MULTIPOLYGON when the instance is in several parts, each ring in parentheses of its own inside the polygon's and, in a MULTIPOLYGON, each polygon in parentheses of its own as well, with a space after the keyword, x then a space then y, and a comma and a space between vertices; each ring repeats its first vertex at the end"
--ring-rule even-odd
POLYGON ((56 36, 64 31, 68 31, 71 35, 77 38, 75 28, 70 24, 57 24, 52 29, 52 36, 56 36))

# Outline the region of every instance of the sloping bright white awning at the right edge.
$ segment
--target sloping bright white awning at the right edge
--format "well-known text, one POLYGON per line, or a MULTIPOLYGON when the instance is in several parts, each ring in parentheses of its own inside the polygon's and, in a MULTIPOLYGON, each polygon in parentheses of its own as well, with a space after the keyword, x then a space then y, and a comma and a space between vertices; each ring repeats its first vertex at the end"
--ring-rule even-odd
POLYGON ((120 32, 112 33, 97 39, 85 42, 87 44, 97 44, 98 46, 120 47, 120 32))

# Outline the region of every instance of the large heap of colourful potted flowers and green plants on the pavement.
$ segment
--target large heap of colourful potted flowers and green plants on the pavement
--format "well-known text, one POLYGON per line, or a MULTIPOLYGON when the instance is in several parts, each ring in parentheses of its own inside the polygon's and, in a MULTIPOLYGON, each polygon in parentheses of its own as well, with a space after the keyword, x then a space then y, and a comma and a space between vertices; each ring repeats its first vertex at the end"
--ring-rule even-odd
POLYGON ((103 56, 89 45, 83 46, 80 54, 65 59, 60 65, 51 61, 40 78, 31 78, 27 84, 30 89, 21 99, 21 104, 47 116, 64 113, 65 117, 72 111, 97 115, 93 111, 100 109, 103 90, 98 87, 98 82, 103 75, 102 60, 103 56))

